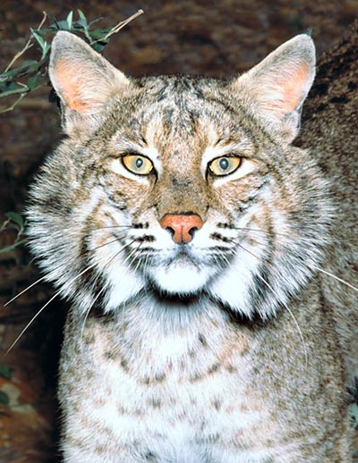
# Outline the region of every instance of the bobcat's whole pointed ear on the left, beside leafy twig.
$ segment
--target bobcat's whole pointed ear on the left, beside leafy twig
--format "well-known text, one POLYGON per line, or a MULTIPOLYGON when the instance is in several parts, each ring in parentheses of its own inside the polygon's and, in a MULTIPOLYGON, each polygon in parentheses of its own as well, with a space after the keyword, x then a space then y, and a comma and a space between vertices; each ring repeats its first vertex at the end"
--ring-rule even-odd
POLYGON ((81 38, 70 32, 57 32, 52 42, 49 76, 64 109, 64 128, 90 122, 107 101, 131 85, 81 38))

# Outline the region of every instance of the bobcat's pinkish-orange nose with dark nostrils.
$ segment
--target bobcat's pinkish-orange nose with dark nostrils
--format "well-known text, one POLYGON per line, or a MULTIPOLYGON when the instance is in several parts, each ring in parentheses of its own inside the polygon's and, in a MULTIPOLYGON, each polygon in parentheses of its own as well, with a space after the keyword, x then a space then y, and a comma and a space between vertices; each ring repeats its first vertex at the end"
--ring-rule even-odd
POLYGON ((203 222, 196 214, 166 214, 160 226, 173 235, 175 243, 189 243, 195 230, 200 230, 203 222))

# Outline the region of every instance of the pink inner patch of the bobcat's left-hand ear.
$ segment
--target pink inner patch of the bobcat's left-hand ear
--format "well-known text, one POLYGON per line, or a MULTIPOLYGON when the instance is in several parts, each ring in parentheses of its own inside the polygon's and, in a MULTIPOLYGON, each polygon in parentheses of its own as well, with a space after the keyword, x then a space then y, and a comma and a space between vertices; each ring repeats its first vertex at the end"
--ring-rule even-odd
POLYGON ((84 76, 81 71, 67 60, 59 60, 55 64, 56 80, 59 83, 64 102, 74 111, 83 113, 90 109, 89 102, 85 100, 82 88, 84 76))

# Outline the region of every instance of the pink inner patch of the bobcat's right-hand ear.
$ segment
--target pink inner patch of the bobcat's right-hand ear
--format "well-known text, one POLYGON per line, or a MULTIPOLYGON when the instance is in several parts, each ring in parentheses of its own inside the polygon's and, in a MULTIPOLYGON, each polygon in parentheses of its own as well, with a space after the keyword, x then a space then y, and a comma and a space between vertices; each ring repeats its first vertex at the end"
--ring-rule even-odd
POLYGON ((279 88, 279 93, 282 97, 272 102, 272 109, 277 113, 285 115, 289 114, 300 105, 303 98, 303 93, 306 88, 307 81, 310 77, 310 68, 307 64, 302 63, 300 67, 294 69, 285 78, 277 79, 275 86, 279 88))

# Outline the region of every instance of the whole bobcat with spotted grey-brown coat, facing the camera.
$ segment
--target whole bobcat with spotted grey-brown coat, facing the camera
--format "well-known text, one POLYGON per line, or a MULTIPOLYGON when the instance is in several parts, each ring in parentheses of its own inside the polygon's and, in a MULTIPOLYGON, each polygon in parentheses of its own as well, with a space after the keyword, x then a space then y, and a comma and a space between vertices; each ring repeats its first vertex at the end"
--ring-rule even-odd
POLYGON ((55 36, 66 138, 28 218, 72 300, 64 461, 352 461, 353 201, 292 143, 314 69, 305 34, 230 80, 129 78, 55 36))

